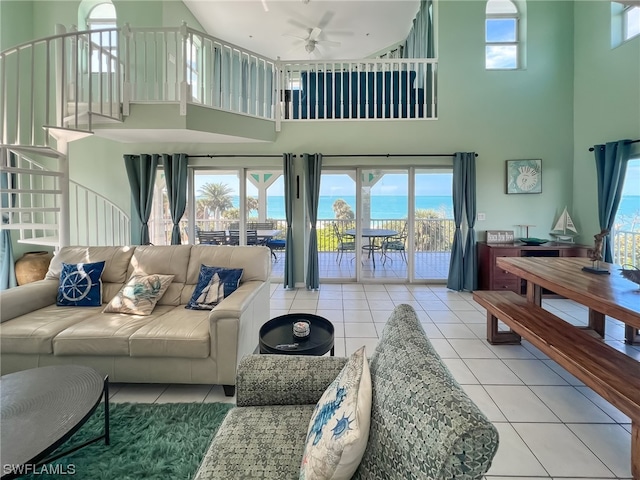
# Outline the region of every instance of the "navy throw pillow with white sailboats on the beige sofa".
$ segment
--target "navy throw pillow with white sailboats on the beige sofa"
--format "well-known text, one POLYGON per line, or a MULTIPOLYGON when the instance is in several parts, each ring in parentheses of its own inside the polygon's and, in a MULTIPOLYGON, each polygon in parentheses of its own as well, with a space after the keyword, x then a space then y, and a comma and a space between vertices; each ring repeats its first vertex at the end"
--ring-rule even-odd
POLYGON ((191 300, 185 308, 211 310, 236 291, 242 278, 242 268, 222 268, 200 265, 200 276, 191 300))

